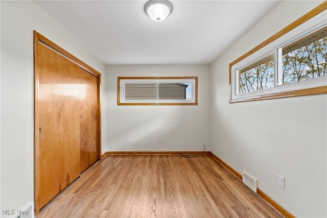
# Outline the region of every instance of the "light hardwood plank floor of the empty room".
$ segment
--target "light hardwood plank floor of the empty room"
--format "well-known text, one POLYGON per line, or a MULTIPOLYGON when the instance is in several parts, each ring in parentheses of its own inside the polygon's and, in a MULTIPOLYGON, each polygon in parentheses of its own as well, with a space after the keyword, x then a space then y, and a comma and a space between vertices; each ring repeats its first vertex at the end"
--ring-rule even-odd
POLYGON ((283 217, 209 155, 113 155, 40 217, 283 217))

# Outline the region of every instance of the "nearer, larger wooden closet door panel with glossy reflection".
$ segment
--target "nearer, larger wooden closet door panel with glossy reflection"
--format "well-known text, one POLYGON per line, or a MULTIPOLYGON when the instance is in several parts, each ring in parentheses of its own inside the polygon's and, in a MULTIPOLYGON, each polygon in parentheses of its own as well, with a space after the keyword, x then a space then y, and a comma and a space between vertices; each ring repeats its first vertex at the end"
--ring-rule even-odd
POLYGON ((39 44, 39 206, 80 174, 79 66, 39 44))

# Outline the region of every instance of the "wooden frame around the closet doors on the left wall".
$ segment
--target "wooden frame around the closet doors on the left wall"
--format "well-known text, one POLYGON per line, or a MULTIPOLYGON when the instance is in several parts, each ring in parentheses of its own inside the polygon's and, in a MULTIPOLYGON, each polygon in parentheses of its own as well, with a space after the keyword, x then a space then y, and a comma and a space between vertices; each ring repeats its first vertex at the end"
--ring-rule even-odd
POLYGON ((65 57, 69 61, 79 65, 90 74, 97 77, 97 88, 98 88, 98 111, 99 111, 99 122, 98 122, 98 143, 97 143, 97 158, 101 159, 101 74, 94 68, 90 67, 80 59, 76 58, 72 54, 62 49, 57 44, 50 41, 48 38, 42 36, 38 32, 34 31, 34 210, 35 215, 40 211, 39 205, 39 111, 38 111, 38 85, 39 85, 39 63, 40 57, 38 56, 38 47, 47 46, 49 49, 55 51, 59 55, 65 57))

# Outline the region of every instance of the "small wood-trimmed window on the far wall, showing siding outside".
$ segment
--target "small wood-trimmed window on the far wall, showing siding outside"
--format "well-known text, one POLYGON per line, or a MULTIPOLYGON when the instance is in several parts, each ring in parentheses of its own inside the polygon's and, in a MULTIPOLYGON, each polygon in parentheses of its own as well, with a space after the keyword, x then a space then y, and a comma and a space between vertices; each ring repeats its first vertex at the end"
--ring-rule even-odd
POLYGON ((197 77, 118 77, 118 105, 197 105, 197 77))

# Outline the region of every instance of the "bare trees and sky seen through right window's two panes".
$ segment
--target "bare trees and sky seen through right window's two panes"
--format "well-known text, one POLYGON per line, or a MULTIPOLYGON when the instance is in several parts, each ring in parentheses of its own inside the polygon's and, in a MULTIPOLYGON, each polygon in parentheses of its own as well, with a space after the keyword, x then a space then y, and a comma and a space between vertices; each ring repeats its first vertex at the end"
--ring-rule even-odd
MULTIPOLYGON (((281 84, 327 76, 327 31, 320 32, 282 48, 281 84)), ((274 87, 273 60, 253 65, 251 69, 240 70, 240 93, 274 87)))

